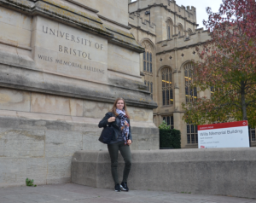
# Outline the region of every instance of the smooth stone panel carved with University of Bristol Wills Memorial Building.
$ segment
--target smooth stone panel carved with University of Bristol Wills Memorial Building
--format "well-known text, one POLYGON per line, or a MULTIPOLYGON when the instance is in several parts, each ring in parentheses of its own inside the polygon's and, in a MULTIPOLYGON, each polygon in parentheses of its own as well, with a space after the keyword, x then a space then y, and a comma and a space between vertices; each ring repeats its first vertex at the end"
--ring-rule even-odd
POLYGON ((32 47, 38 67, 49 73, 107 82, 107 39, 37 17, 32 47))

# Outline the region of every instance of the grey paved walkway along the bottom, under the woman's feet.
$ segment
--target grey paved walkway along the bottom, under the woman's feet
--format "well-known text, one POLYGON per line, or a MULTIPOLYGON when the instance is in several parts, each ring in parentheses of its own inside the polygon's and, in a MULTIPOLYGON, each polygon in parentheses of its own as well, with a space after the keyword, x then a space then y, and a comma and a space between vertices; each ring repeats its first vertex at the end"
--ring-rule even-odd
POLYGON ((36 188, 0 188, 1 203, 256 203, 256 200, 203 195, 131 190, 114 192, 76 184, 45 185, 36 188))

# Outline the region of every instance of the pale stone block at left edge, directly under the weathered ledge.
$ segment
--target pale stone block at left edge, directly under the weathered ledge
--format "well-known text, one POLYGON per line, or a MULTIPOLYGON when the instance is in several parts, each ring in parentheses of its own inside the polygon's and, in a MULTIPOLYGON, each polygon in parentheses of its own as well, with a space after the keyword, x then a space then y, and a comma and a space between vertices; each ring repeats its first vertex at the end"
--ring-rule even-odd
POLYGON ((30 98, 30 92, 0 88, 0 109, 29 112, 30 98))

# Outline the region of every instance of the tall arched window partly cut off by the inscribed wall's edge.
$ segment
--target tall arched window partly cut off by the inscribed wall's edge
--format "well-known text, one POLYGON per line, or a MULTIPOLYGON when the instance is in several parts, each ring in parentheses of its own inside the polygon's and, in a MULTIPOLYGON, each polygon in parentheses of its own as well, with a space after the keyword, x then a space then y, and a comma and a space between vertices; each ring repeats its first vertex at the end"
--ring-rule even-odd
POLYGON ((145 48, 145 52, 143 53, 143 74, 144 76, 144 84, 148 86, 148 91, 150 92, 150 96, 153 99, 153 72, 154 72, 154 55, 152 45, 149 44, 148 41, 143 42, 143 48, 145 48))

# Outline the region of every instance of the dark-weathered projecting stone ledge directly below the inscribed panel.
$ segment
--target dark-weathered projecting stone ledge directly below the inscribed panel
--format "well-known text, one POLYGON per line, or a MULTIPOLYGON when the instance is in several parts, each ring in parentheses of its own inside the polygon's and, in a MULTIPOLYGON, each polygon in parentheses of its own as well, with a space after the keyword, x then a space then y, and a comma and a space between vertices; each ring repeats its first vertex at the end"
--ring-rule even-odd
MULTIPOLYGON (((3 57, 4 58, 4 57, 3 57)), ((0 60, 1 63, 1 60, 0 60)), ((65 77, 55 75, 55 81, 47 79, 48 73, 37 70, 23 69, 0 64, 0 86, 17 90, 36 91, 58 96, 71 96, 97 102, 114 102, 117 96, 122 96, 128 105, 134 107, 156 108, 157 104, 145 90, 143 83, 134 83, 130 80, 110 81, 106 84, 96 84, 91 88, 88 81, 65 84, 65 77), (21 73, 22 72, 22 73, 21 73), (60 81, 63 81, 60 83, 60 81), (111 90, 110 88, 111 87, 111 90), (102 90, 101 90, 102 89, 102 90), (124 89, 126 93, 124 94, 124 89)), ((110 79, 111 80, 111 79, 110 79)))

